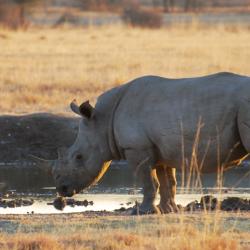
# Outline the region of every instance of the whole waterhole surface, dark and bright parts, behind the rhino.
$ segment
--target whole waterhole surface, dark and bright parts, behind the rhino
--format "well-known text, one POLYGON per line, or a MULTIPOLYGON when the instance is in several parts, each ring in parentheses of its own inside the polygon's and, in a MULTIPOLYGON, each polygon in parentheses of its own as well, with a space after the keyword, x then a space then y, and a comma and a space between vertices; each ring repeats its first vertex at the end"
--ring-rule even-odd
MULTIPOLYGON (((93 206, 67 206, 63 213, 83 212, 83 211, 113 211, 121 207, 127 208, 127 203, 141 201, 140 181, 131 178, 132 172, 126 167, 111 168, 107 171, 97 186, 91 187, 82 194, 74 196, 76 200, 93 201, 93 206), (136 187, 136 188, 135 188, 136 187)), ((180 183, 181 175, 177 175, 180 183)), ((22 198, 33 198, 32 206, 17 208, 0 208, 0 214, 27 214, 27 213, 62 213, 47 203, 53 202, 56 197, 54 182, 52 177, 36 168, 1 168, 0 182, 7 183, 8 189, 15 190, 14 195, 22 198)), ((250 167, 243 166, 238 169, 228 171, 224 174, 224 188, 222 196, 242 197, 250 199, 250 167)), ((203 175, 202 189, 181 189, 177 188, 176 201, 182 206, 189 202, 199 200, 204 194, 213 194, 218 197, 219 191, 216 188, 216 174, 203 175)), ((130 205, 131 206, 131 205, 130 205)))

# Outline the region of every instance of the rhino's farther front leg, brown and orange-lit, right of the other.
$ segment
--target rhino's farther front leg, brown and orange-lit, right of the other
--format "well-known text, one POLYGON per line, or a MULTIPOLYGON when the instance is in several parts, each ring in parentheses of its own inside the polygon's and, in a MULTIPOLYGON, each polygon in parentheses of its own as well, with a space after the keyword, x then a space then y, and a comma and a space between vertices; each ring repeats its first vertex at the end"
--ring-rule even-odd
POLYGON ((160 182, 160 204, 159 208, 162 213, 178 212, 175 204, 176 194, 176 176, 175 169, 168 168, 165 165, 157 165, 157 178, 160 182))

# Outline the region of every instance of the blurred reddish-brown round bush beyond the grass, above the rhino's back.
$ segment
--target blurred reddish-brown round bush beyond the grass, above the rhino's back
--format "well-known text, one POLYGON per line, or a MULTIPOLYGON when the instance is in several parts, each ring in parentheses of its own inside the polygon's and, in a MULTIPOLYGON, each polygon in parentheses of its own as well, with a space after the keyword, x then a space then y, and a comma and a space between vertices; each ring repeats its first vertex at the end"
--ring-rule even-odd
POLYGON ((138 7, 124 9, 122 19, 126 24, 144 28, 159 28, 163 23, 160 13, 138 7))

